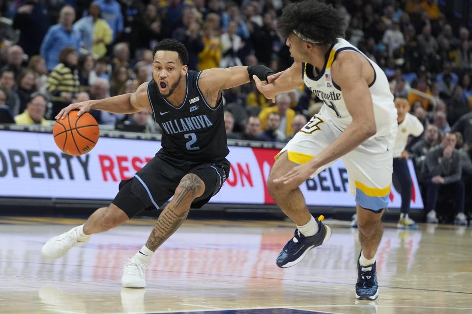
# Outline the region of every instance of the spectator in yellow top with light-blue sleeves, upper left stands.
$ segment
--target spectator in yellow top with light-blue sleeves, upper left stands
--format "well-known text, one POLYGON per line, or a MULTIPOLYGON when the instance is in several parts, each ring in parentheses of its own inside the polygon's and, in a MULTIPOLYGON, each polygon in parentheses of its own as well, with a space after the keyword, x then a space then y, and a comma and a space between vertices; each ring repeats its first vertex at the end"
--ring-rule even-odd
POLYGON ((82 43, 95 58, 107 54, 107 45, 112 43, 113 30, 102 19, 100 6, 96 2, 89 5, 89 15, 75 22, 74 29, 81 34, 82 43))

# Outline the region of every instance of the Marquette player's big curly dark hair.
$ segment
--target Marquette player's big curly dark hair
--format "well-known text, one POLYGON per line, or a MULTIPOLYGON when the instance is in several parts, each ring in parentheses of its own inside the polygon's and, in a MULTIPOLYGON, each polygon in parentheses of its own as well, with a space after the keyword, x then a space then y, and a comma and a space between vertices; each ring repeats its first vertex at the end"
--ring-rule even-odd
MULTIPOLYGON (((277 24, 284 37, 295 30, 317 44, 332 44, 344 37, 344 17, 331 4, 304 0, 287 5, 277 24)), ((302 40, 305 40, 302 38, 302 40)))

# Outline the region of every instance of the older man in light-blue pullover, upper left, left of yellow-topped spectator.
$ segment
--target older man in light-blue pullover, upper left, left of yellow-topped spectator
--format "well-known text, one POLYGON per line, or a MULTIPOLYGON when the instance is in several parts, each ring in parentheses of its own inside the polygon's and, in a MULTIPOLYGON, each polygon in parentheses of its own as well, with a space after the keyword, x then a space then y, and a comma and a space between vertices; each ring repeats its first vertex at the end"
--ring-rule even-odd
POLYGON ((59 64, 59 53, 65 47, 80 49, 80 32, 72 28, 75 20, 75 9, 64 6, 59 13, 59 24, 49 27, 43 43, 41 44, 41 55, 46 60, 46 67, 52 71, 59 64))

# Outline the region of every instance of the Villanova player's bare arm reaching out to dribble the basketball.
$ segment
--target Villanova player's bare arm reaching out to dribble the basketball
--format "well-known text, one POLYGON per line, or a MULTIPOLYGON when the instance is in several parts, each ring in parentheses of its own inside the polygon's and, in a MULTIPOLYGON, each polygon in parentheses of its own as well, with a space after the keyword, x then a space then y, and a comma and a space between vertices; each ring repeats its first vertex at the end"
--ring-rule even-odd
POLYGON ((88 100, 70 104, 60 110, 56 119, 63 119, 72 110, 79 110, 77 115, 80 116, 91 109, 123 114, 135 113, 143 109, 148 109, 149 112, 152 112, 148 99, 148 82, 141 84, 136 92, 132 94, 123 94, 100 100, 88 100))

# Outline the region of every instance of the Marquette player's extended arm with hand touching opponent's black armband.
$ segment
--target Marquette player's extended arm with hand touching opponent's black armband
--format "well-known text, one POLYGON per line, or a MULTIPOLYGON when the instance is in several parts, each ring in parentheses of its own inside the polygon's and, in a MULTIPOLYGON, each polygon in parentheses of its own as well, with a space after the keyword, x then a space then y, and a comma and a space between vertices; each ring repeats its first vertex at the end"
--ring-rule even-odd
POLYGON ((275 103, 275 96, 289 92, 303 85, 302 64, 294 62, 290 68, 283 72, 268 77, 268 81, 254 77, 257 89, 267 98, 275 103))

